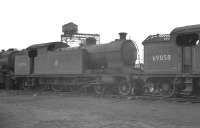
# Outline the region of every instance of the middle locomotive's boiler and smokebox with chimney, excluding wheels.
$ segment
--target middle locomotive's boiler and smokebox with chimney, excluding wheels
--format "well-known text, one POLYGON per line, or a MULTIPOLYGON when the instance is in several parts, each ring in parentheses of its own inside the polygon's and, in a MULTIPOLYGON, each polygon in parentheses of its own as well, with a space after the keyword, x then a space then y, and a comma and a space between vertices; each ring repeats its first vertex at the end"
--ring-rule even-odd
POLYGON ((126 33, 120 33, 120 39, 86 47, 90 58, 89 69, 102 69, 105 73, 123 73, 123 69, 132 68, 137 59, 137 48, 134 42, 126 40, 125 36, 126 33))

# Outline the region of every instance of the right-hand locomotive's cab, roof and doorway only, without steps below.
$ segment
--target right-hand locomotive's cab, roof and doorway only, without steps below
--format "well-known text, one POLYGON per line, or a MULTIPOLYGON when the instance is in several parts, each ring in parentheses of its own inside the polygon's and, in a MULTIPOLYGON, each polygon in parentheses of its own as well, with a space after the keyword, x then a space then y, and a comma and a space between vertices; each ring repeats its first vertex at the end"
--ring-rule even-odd
POLYGON ((180 70, 182 73, 195 73, 198 69, 199 58, 199 25, 178 27, 172 32, 172 39, 178 47, 180 70))

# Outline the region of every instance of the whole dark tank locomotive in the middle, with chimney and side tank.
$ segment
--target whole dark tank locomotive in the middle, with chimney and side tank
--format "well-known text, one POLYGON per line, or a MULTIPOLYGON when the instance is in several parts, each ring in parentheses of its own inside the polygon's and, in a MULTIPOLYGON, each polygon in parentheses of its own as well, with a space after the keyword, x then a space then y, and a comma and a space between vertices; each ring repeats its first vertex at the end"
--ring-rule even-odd
POLYGON ((125 36, 120 33, 120 39, 110 43, 86 42, 79 47, 62 42, 30 46, 27 52, 15 56, 16 81, 21 88, 73 91, 93 87, 102 94, 109 87, 128 95, 132 87, 130 74, 138 72, 133 70, 137 49, 125 36))

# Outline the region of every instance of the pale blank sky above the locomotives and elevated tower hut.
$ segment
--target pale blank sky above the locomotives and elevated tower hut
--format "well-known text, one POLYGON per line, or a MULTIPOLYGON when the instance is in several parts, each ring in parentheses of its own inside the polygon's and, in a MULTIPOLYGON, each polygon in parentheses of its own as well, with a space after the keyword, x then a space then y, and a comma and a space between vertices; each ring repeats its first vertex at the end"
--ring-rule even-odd
POLYGON ((100 34, 102 43, 127 32, 142 49, 150 34, 199 24, 199 5, 198 0, 1 0, 0 49, 60 41, 68 22, 79 32, 100 34))

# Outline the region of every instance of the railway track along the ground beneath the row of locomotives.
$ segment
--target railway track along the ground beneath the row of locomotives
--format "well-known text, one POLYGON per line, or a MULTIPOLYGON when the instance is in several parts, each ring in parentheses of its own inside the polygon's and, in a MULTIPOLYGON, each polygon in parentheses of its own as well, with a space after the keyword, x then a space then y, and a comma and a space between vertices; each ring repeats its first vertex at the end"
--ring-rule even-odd
POLYGON ((54 91, 24 91, 24 90, 16 90, 16 91, 0 91, 1 94, 9 94, 9 95, 59 95, 59 96, 94 96, 100 98, 114 98, 114 99, 127 99, 127 100, 144 100, 144 101, 167 101, 167 102, 178 102, 178 103, 200 103, 200 97, 197 96, 187 96, 182 95, 179 97, 163 97, 161 95, 151 95, 145 94, 142 96, 121 96, 117 94, 106 94, 106 95, 95 95, 88 94, 85 92, 82 93, 73 93, 73 92, 54 92, 54 91))

